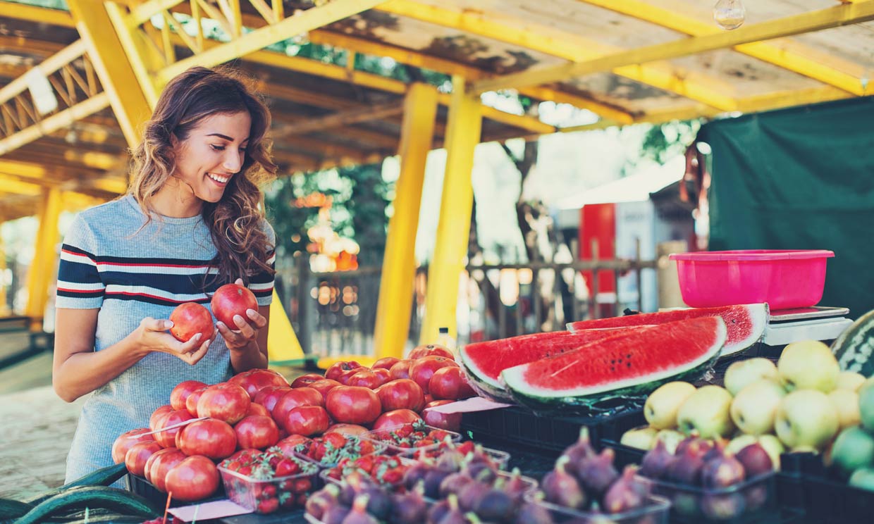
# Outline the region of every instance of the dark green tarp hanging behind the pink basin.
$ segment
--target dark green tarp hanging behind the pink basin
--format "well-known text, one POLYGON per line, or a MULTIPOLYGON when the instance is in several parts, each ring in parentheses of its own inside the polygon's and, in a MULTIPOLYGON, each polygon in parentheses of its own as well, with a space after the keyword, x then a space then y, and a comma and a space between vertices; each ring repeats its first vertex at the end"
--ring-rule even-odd
POLYGON ((874 309, 874 97, 713 121, 710 249, 829 249, 821 306, 874 309))

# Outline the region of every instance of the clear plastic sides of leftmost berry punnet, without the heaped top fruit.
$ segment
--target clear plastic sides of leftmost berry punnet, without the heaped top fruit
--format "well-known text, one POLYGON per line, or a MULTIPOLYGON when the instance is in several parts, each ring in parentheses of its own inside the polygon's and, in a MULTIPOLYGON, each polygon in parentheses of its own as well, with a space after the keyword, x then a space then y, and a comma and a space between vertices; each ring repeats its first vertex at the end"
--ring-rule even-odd
POLYGON ((279 509, 302 507, 309 493, 321 486, 319 467, 306 458, 297 458, 301 472, 275 479, 253 479, 218 466, 227 497, 256 514, 272 514, 279 509))

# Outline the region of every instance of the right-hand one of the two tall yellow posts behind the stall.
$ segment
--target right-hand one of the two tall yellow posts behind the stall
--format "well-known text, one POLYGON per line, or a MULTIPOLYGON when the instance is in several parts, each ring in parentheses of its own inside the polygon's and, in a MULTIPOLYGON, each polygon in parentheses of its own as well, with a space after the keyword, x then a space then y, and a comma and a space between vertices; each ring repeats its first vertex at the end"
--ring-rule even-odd
POLYGON ((446 137, 447 160, 440 198, 440 220, 434 244, 434 259, 428 269, 425 321, 420 342, 437 340, 440 327, 455 336, 455 307, 464 258, 468 253, 470 211, 474 187, 474 149, 480 141, 482 114, 479 97, 466 93, 464 79, 453 77, 453 98, 449 107, 446 137))

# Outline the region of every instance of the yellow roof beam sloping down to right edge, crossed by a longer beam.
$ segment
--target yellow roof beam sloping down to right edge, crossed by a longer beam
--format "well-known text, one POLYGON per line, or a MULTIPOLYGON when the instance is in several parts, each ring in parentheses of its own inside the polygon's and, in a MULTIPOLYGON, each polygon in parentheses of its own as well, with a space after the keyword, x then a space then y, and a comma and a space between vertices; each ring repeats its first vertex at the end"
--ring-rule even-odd
MULTIPOLYGON (((679 10, 669 10, 642 0, 579 0, 598 7, 613 10, 628 17, 635 17, 646 22, 667 27, 693 37, 711 35, 723 30, 712 21, 702 21, 695 17, 683 15, 679 10)), ((848 2, 849 3, 849 2, 848 2)), ((678 5, 678 8, 680 6, 678 5)), ((797 48, 797 45, 795 45, 797 48)), ((760 59, 763 62, 780 66, 792 72, 797 72, 811 79, 819 80, 829 86, 836 86, 848 93, 865 94, 865 88, 857 77, 836 69, 829 64, 816 59, 810 59, 799 52, 787 49, 776 43, 754 42, 752 44, 735 45, 734 50, 760 59)))

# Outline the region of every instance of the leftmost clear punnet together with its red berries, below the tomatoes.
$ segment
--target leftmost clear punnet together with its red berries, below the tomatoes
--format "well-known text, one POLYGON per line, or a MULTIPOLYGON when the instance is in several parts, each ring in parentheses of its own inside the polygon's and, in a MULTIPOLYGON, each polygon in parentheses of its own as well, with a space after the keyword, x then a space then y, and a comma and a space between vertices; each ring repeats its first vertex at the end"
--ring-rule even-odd
POLYGON ((278 447, 243 450, 218 465, 228 498, 259 514, 302 507, 318 470, 316 464, 284 455, 278 447))

